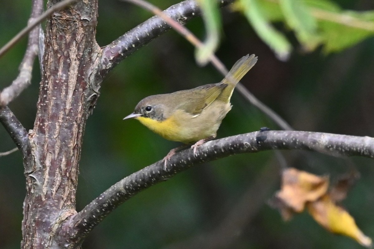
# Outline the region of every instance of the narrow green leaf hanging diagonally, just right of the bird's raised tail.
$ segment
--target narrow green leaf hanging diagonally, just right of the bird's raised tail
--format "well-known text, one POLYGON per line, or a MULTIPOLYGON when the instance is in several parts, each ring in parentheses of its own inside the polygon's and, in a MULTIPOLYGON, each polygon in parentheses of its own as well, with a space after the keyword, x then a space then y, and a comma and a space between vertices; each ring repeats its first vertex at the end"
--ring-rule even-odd
POLYGON ((244 14, 253 26, 257 35, 275 52, 282 61, 288 59, 291 44, 281 32, 276 30, 264 15, 257 0, 240 0, 244 14))

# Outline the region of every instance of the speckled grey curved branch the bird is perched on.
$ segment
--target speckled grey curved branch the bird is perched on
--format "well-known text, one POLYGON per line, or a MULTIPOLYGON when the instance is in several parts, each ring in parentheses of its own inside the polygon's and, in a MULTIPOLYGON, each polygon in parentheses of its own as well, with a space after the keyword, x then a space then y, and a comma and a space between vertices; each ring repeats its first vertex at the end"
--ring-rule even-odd
POLYGON ((62 226, 61 234, 72 240, 83 239, 98 223, 121 203, 158 182, 166 181, 191 165, 239 153, 265 150, 309 150, 333 156, 364 156, 374 158, 374 138, 320 132, 263 131, 251 132, 206 142, 197 149, 175 154, 166 171, 162 161, 154 163, 114 184, 82 211, 72 215, 62 226))

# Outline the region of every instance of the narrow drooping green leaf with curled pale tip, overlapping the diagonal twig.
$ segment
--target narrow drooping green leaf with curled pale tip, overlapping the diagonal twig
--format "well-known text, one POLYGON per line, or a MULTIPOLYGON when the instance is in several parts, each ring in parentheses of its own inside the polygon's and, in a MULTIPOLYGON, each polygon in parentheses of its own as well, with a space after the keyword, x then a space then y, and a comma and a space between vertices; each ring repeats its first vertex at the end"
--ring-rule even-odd
POLYGON ((199 65, 206 65, 220 42, 221 15, 216 0, 198 0, 206 29, 203 46, 196 48, 195 58, 199 65))

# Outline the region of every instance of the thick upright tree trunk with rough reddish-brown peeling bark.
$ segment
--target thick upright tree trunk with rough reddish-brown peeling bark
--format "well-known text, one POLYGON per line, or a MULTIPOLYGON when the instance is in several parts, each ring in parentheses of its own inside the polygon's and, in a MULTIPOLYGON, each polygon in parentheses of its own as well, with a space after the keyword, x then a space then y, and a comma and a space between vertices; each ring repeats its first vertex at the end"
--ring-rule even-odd
POLYGON ((47 20, 38 111, 25 160, 22 248, 62 248, 56 230, 76 213, 82 135, 98 90, 89 82, 101 52, 96 16, 97 1, 79 1, 47 20))

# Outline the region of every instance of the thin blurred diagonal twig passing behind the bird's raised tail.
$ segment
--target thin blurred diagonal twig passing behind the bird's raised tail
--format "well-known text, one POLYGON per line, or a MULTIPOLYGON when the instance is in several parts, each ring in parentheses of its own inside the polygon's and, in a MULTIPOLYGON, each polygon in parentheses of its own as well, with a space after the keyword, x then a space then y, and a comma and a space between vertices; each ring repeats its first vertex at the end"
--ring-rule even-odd
MULTIPOLYGON (((138 6, 141 6, 151 12, 153 12, 155 15, 160 16, 165 22, 170 25, 172 28, 174 28, 178 33, 180 33, 186 40, 188 40, 191 44, 193 44, 195 47, 201 48, 203 47, 203 43, 197 39, 196 36, 194 36, 191 31, 189 31, 187 28, 183 27, 180 23, 169 17, 165 12, 163 12, 161 9, 157 8, 156 6, 148 3, 144 0, 122 0, 122 1, 128 1, 134 4, 137 4, 138 6)), ((229 72, 225 65, 215 56, 212 54, 210 56, 210 61, 214 65, 214 67, 220 71, 220 73, 223 76, 226 76, 229 72)), ((284 130, 293 130, 292 127, 282 119, 281 116, 279 116, 275 111, 273 111, 271 108, 269 108, 267 105, 265 105, 263 102, 261 102, 259 99, 257 99, 251 92, 248 91, 240 82, 237 84, 236 89, 255 107, 260 109, 264 114, 266 114, 270 119, 272 119, 276 124, 278 124, 279 127, 281 127, 284 130)))

